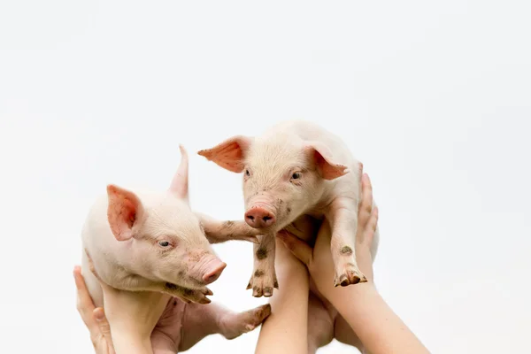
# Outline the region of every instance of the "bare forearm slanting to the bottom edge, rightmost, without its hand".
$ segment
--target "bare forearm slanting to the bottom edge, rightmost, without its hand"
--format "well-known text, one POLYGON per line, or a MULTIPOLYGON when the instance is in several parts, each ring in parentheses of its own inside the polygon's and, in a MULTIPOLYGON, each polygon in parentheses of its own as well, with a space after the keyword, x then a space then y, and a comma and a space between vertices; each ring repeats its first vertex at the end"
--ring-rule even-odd
POLYGON ((372 284, 334 290, 330 301, 372 354, 429 353, 372 284))

